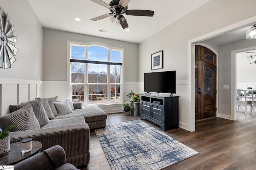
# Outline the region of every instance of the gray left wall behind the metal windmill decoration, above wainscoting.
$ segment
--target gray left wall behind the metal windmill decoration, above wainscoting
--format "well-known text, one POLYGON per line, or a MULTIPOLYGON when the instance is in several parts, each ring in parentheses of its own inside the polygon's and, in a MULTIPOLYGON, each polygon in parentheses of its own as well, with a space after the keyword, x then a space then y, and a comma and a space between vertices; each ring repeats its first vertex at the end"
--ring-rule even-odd
POLYGON ((11 68, 0 68, 0 78, 42 80, 43 28, 28 0, 0 0, 2 14, 14 24, 19 50, 11 68))

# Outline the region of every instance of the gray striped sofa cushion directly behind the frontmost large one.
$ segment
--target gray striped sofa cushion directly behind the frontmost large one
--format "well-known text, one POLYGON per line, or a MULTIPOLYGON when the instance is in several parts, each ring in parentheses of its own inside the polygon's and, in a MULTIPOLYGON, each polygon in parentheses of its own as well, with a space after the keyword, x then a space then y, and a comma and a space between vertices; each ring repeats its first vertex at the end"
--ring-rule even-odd
POLYGON ((36 115, 36 119, 38 120, 40 127, 50 122, 50 120, 48 119, 47 113, 44 109, 44 106, 42 104, 42 101, 40 99, 35 99, 35 100, 18 104, 18 105, 11 105, 10 112, 14 112, 29 104, 31 104, 33 108, 34 114, 36 115))

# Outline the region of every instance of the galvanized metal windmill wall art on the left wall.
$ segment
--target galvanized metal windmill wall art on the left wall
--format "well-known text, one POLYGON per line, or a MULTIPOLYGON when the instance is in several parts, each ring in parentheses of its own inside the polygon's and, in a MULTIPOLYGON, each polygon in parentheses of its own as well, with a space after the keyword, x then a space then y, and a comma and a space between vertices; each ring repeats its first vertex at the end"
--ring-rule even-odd
POLYGON ((9 23, 9 16, 4 16, 0 7, 0 68, 10 68, 16 61, 18 49, 15 43, 18 36, 14 36, 14 24, 9 23))

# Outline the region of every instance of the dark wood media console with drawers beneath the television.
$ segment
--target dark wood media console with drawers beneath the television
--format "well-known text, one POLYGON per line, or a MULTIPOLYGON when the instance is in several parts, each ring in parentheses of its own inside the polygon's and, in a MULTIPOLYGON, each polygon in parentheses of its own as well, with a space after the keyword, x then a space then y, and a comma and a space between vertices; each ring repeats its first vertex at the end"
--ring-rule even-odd
POLYGON ((179 96, 140 94, 140 119, 147 119, 163 131, 179 127, 179 96))

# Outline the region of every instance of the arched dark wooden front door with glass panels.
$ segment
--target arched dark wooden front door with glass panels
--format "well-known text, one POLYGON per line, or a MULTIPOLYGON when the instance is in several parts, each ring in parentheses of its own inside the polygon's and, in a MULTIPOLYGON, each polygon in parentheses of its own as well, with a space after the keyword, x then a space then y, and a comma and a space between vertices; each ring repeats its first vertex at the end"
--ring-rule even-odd
POLYGON ((216 117, 216 54, 196 45, 196 120, 216 117))

